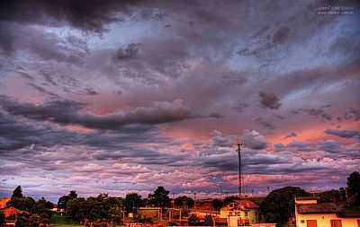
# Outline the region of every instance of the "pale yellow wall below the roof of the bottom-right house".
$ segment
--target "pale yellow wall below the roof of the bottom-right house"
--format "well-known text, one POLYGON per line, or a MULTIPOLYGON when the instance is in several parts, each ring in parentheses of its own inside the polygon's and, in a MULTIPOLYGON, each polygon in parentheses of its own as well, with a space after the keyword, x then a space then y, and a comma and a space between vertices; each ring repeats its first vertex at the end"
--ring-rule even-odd
POLYGON ((331 220, 341 220, 342 227, 358 227, 357 220, 360 218, 340 218, 337 214, 297 214, 296 227, 306 227, 306 220, 317 220, 318 227, 331 227, 331 220))

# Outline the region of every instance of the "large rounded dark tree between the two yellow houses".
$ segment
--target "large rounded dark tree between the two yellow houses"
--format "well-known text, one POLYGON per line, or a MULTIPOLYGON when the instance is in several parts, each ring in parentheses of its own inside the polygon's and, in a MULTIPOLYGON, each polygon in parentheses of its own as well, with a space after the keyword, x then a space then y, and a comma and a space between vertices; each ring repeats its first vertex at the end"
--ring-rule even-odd
POLYGON ((260 213, 266 222, 287 223, 294 213, 295 196, 310 196, 310 194, 298 187, 280 188, 270 192, 260 204, 260 213))

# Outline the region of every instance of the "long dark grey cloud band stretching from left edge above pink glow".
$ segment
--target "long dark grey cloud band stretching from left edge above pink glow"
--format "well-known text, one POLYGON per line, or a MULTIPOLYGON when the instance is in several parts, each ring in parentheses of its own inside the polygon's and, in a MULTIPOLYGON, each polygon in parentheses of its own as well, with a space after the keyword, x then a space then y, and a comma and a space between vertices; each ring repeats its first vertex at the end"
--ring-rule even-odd
POLYGON ((71 100, 54 100, 35 105, 2 97, 1 104, 6 111, 17 116, 99 129, 119 129, 136 124, 157 125, 200 117, 184 106, 182 100, 156 102, 150 107, 139 107, 104 116, 80 114, 79 111, 85 108, 85 103, 71 100))

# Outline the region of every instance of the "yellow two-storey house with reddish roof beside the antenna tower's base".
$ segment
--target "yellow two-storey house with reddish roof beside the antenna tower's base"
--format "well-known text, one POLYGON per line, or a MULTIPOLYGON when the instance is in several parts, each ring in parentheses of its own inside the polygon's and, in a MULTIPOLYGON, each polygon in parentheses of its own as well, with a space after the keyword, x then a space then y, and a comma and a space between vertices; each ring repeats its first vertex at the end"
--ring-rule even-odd
POLYGON ((259 207, 254 202, 241 199, 220 209, 220 217, 228 218, 228 226, 250 225, 259 222, 259 207))

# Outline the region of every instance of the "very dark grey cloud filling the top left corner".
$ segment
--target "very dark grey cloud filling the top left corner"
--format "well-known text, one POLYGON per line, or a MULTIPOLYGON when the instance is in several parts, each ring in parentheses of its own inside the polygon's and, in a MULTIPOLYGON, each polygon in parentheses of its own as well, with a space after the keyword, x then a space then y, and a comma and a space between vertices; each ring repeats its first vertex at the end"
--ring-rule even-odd
POLYGON ((79 29, 101 32, 107 23, 121 20, 117 13, 130 15, 130 6, 136 2, 139 1, 5 0, 0 4, 0 20, 39 24, 68 22, 79 29))

